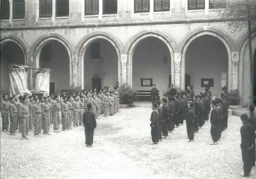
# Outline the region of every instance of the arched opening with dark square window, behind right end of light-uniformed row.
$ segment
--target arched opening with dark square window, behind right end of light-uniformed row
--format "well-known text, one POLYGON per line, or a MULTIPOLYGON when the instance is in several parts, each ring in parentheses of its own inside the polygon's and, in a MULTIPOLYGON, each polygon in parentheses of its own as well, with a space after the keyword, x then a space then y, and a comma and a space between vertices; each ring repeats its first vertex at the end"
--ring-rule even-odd
POLYGON ((83 60, 84 89, 114 89, 118 82, 118 54, 113 44, 101 38, 91 41, 83 60))

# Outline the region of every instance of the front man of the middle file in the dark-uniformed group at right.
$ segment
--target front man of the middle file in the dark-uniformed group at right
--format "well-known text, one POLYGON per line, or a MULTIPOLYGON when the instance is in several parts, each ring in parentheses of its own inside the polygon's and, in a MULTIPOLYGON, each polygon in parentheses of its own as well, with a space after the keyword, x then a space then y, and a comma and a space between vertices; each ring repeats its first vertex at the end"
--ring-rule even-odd
POLYGON ((187 124, 187 136, 189 140, 187 142, 194 141, 194 105, 192 103, 188 104, 188 110, 186 115, 186 124, 187 124))

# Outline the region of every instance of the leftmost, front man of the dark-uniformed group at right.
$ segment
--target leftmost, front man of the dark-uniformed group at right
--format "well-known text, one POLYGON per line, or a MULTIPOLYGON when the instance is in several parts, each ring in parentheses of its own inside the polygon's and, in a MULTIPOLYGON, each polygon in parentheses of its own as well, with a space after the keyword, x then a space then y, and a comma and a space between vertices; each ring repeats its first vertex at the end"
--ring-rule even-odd
POLYGON ((150 127, 151 127, 151 136, 152 136, 152 142, 151 144, 158 144, 159 140, 158 140, 158 126, 157 126, 157 121, 159 119, 159 112, 156 109, 158 105, 156 103, 154 103, 152 105, 153 111, 151 113, 151 117, 150 117, 150 127))

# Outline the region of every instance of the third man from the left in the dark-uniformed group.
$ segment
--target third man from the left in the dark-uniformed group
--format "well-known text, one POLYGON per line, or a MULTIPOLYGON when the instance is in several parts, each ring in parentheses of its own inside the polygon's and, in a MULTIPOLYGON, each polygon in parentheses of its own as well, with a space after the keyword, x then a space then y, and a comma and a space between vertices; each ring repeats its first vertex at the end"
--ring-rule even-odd
POLYGON ((162 109, 163 109, 162 133, 163 133, 163 138, 166 138, 168 136, 167 124, 169 122, 170 107, 167 105, 167 99, 166 98, 163 98, 162 101, 163 101, 163 106, 162 106, 162 109))

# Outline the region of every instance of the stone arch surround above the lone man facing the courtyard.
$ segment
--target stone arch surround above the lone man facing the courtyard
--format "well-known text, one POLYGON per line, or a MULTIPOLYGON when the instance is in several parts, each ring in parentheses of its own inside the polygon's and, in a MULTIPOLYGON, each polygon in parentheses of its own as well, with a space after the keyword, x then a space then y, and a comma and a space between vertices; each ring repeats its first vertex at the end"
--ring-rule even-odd
MULTIPOLYGON (((133 85, 133 78, 132 78, 132 57, 133 52, 136 48, 136 46, 142 41, 143 39, 147 37, 156 37, 163 41, 165 45, 168 47, 170 54, 171 54, 171 64, 174 63, 174 51, 176 50, 176 43, 172 40, 172 38, 165 34, 164 32, 161 32, 159 30, 149 29, 149 30, 143 30, 139 32, 138 34, 134 35, 125 45, 125 53, 127 54, 127 76, 126 80, 127 83, 129 83, 131 86, 133 85)), ((171 65, 171 73, 174 71, 174 66, 171 65)), ((174 80, 174 75, 172 75, 172 81, 174 80)))

